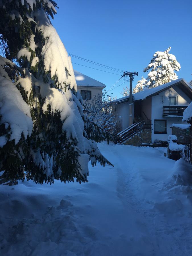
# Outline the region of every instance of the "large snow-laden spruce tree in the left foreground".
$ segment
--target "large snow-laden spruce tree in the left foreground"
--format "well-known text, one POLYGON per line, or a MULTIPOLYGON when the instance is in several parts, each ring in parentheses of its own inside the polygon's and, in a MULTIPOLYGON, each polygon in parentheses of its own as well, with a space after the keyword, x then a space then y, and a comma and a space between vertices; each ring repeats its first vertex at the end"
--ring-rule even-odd
POLYGON ((81 183, 89 160, 110 164, 96 142, 112 137, 83 113, 71 59, 49 19, 56 7, 51 0, 0 0, 1 182, 81 183))

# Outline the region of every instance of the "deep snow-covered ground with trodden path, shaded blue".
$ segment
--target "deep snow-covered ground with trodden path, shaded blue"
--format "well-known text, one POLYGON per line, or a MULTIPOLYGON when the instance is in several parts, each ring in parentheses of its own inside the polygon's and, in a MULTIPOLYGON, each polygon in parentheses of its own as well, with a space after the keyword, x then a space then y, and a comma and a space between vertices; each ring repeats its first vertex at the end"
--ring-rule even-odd
POLYGON ((191 166, 99 148, 114 167, 90 165, 89 183, 0 185, 0 255, 192 255, 191 166))

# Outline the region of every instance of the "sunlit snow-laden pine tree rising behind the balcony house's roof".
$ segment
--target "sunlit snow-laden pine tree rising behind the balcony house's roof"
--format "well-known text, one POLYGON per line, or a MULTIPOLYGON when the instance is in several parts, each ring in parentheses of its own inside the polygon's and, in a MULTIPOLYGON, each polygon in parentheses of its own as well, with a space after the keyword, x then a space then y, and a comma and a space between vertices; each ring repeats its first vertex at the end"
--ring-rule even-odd
POLYGON ((148 88, 166 84, 178 78, 174 71, 179 71, 181 66, 175 55, 169 53, 170 49, 171 47, 166 51, 157 51, 149 65, 143 70, 144 72, 151 70, 146 82, 148 88))

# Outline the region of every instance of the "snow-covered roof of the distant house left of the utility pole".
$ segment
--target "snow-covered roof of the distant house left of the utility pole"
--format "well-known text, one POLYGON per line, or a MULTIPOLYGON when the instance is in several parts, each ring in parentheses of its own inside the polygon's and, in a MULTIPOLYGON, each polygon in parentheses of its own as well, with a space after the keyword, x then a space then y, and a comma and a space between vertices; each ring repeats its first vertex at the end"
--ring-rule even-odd
POLYGON ((105 84, 74 70, 77 86, 106 87, 105 84))

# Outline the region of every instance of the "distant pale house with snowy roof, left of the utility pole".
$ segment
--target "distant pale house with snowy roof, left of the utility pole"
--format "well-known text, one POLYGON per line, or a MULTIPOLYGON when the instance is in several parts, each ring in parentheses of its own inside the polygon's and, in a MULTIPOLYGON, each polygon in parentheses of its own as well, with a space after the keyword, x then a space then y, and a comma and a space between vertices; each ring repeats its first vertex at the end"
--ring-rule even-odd
POLYGON ((98 94, 102 95, 102 90, 106 87, 105 84, 75 70, 74 74, 77 82, 77 90, 80 92, 83 100, 91 100, 98 94))

